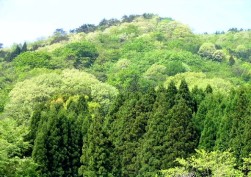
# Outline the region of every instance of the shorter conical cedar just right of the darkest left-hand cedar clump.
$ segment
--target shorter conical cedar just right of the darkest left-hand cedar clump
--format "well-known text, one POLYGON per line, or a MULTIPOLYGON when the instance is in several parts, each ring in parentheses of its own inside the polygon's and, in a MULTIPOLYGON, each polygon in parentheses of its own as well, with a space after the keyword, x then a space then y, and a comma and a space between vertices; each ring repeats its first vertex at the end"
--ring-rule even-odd
POLYGON ((111 176, 112 144, 103 128, 104 118, 96 111, 84 138, 79 174, 86 177, 111 176))

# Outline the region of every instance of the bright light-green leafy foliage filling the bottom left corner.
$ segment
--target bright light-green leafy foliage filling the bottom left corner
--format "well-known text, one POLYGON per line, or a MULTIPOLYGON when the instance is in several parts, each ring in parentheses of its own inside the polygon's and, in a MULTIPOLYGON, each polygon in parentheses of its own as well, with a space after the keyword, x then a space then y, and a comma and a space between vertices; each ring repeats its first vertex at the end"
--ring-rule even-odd
POLYGON ((31 158, 23 157, 29 149, 29 144, 23 140, 26 129, 13 119, 0 120, 0 176, 38 176, 37 164, 31 158))

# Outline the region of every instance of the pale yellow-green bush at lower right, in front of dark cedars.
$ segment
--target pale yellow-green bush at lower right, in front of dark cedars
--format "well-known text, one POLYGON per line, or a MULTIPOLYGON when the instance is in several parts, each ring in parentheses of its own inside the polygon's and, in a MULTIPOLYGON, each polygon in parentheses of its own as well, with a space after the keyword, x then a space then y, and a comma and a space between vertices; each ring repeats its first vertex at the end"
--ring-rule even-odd
POLYGON ((163 170, 163 176, 192 175, 204 177, 242 177, 241 171, 235 169, 235 158, 230 152, 196 150, 196 155, 188 159, 177 159, 181 167, 163 170))

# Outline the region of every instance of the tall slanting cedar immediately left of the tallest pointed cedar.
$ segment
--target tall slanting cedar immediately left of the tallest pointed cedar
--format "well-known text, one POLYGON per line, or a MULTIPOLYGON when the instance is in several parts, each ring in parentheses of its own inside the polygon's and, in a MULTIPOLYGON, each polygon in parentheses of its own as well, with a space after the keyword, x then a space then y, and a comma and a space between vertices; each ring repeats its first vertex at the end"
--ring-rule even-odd
POLYGON ((177 89, 173 82, 167 90, 160 87, 156 93, 156 101, 139 153, 141 166, 138 176, 154 176, 164 166, 164 156, 167 154, 164 137, 170 124, 168 112, 174 105, 176 94, 177 89))

